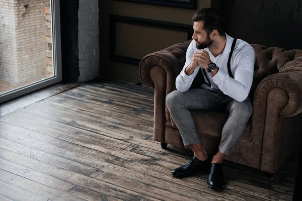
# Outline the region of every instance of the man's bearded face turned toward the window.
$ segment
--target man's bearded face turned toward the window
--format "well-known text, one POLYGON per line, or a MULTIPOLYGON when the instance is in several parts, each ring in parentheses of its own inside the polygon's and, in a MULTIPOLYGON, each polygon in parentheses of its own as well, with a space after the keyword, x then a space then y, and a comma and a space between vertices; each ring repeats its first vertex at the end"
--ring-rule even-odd
POLYGON ((213 40, 211 40, 210 35, 206 33, 203 29, 203 21, 194 22, 193 24, 194 34, 192 39, 195 40, 196 48, 201 50, 209 47, 213 40))

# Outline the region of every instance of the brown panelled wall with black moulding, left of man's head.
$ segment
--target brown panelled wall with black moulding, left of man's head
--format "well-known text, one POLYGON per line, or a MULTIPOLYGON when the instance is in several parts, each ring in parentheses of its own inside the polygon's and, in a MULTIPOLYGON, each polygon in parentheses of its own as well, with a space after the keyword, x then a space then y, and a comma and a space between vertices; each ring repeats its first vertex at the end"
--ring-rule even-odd
MULTIPOLYGON (((184 1, 189 2, 189 0, 184 1)), ((156 21, 156 23, 178 23, 182 24, 183 27, 185 25, 192 27, 191 18, 197 10, 211 7, 211 3, 219 1, 197 0, 196 2, 196 9, 192 10, 125 1, 99 1, 100 75, 105 78, 132 83, 141 82, 138 64, 133 64, 131 61, 139 60, 146 54, 164 49, 175 43, 187 41, 188 31, 138 25, 137 21, 143 19, 156 21), (134 24, 112 21, 110 24, 110 15, 135 18, 134 24), (109 29, 112 23, 114 23, 114 36, 109 29), (114 37, 115 45, 110 42, 110 37, 114 37), (115 58, 113 59, 110 59, 110 46, 111 48, 112 46, 115 47, 115 58), (124 60, 117 61, 116 58, 118 57, 123 57, 124 60)), ((215 4, 215 6, 217 5, 219 4, 215 4)), ((173 26, 169 25, 168 27, 173 26)))

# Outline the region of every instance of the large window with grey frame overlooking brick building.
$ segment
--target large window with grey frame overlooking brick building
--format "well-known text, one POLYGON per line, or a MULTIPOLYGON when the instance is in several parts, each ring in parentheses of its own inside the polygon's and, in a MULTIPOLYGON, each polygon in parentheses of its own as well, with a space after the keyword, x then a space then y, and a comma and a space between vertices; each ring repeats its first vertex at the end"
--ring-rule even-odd
POLYGON ((59 0, 0 0, 0 103, 60 82, 59 0))

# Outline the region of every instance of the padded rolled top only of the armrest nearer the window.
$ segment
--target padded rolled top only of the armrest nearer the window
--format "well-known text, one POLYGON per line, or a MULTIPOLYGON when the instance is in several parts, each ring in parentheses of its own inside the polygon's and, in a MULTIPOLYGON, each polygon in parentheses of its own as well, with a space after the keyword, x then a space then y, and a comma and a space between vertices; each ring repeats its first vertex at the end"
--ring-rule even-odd
POLYGON ((139 63, 141 81, 155 88, 155 80, 150 76, 150 69, 155 65, 160 66, 165 70, 167 75, 166 94, 172 92, 175 88, 176 77, 185 64, 186 51, 190 42, 178 43, 143 57, 139 63))

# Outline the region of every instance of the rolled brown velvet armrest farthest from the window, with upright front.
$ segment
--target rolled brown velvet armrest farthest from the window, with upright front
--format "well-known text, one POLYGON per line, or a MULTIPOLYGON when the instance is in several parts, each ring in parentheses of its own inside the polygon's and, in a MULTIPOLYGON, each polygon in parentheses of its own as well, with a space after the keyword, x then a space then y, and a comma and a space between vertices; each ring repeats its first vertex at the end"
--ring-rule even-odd
POLYGON ((256 88, 252 141, 261 144, 262 171, 276 172, 297 145, 301 131, 301 70, 301 67, 293 66, 269 75, 256 88))

